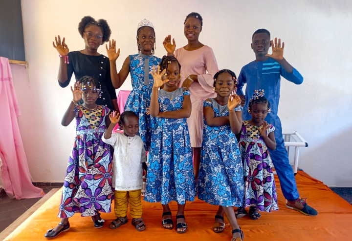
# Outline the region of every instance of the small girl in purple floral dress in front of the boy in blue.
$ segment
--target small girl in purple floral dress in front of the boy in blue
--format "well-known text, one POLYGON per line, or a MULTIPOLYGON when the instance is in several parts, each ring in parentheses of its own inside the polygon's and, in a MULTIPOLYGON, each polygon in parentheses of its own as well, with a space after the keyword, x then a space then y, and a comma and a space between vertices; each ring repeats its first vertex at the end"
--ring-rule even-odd
POLYGON ((236 212, 237 218, 247 215, 244 209, 249 206, 249 216, 253 220, 260 218, 258 211, 278 210, 276 187, 272 172, 269 150, 275 150, 275 127, 264 121, 270 112, 270 103, 264 97, 264 90, 255 90, 249 100, 249 121, 243 121, 240 139, 240 151, 244 176, 243 206, 236 212))

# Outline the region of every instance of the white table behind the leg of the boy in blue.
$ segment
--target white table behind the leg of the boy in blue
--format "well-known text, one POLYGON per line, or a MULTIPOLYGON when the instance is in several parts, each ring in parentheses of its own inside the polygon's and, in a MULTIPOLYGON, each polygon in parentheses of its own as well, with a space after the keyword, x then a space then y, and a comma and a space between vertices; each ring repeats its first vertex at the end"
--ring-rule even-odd
MULTIPOLYGON (((300 147, 307 147, 308 143, 303 139, 303 137, 297 131, 284 132, 283 137, 284 137, 285 147, 288 154, 288 159, 292 159, 290 158, 290 152, 291 152, 290 149, 294 148, 292 168, 293 168, 294 175, 296 175, 298 170, 299 149, 300 147), (293 148, 290 148, 290 147, 293 147, 293 148)), ((291 160, 290 160, 290 163, 291 163, 291 160)), ((276 172, 274 172, 274 174, 276 175, 276 172)))

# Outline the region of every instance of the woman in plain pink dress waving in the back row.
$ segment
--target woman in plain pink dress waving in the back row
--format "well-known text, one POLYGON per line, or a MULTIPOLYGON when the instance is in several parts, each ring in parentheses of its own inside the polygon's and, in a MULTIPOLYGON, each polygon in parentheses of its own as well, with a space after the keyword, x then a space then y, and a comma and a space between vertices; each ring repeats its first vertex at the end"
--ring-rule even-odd
POLYGON ((203 137, 203 102, 208 98, 216 97, 213 89, 213 76, 219 70, 212 48, 198 40, 202 25, 202 17, 198 13, 190 13, 184 21, 184 35, 188 41, 187 45, 176 49, 174 39, 171 43, 171 35, 163 41, 168 55, 175 55, 182 66, 180 87, 188 87, 191 92, 192 112, 187 119, 187 124, 191 138, 196 181, 198 180, 203 137))

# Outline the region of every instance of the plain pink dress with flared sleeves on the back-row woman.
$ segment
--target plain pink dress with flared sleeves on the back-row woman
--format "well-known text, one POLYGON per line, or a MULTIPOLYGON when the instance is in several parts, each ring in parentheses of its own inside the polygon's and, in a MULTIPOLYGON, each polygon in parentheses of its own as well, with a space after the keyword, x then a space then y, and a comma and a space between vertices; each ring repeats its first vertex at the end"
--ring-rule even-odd
POLYGON ((188 51, 183 47, 176 49, 175 57, 181 64, 181 81, 189 75, 197 75, 198 82, 193 82, 189 87, 191 92, 192 112, 187 119, 191 146, 201 147, 203 136, 203 102, 208 98, 215 98, 213 90, 213 76, 218 72, 218 64, 213 49, 207 45, 188 51))

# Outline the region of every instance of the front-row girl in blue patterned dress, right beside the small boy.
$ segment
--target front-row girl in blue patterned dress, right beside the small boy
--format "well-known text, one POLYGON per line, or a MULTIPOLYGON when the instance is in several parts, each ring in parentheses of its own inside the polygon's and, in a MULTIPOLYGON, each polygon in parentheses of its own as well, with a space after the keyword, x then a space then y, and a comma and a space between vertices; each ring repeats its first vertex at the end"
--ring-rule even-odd
POLYGON ((186 121, 192 106, 189 89, 177 87, 180 68, 175 57, 164 56, 153 72, 150 115, 156 117, 156 121, 144 200, 161 202, 162 225, 166 229, 174 227, 169 202, 177 201, 176 231, 185 233, 184 208, 186 201, 194 201, 196 188, 186 121), (158 90, 162 85, 163 89, 158 90))

